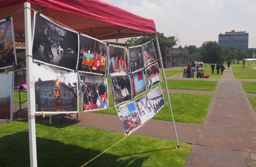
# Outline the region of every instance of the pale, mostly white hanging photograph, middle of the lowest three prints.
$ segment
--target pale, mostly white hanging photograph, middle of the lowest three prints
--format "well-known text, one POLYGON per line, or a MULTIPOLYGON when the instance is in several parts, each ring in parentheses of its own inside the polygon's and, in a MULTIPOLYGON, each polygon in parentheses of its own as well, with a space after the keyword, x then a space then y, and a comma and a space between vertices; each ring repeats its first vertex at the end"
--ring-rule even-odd
POLYGON ((137 99, 136 101, 134 101, 134 103, 141 117, 142 124, 144 124, 150 118, 154 117, 154 109, 152 108, 146 95, 137 99))

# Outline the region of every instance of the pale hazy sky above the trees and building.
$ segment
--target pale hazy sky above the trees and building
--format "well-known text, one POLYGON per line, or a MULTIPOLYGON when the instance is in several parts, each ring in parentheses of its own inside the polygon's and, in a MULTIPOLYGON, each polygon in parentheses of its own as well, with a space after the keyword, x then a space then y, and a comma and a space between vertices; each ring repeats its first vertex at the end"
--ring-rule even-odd
POLYGON ((217 41, 220 33, 246 31, 249 48, 256 48, 255 0, 103 0, 139 16, 153 19, 156 30, 178 36, 177 46, 217 41))

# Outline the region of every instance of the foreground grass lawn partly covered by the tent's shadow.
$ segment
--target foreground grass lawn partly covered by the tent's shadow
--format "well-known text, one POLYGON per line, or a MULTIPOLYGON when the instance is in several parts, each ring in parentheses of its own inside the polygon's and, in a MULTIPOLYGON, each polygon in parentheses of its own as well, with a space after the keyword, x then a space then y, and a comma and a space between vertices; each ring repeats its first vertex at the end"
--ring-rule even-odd
MULTIPOLYGON (((0 166, 29 166, 28 123, 0 125, 0 166)), ((36 120, 38 166, 82 166, 124 138, 116 133, 36 120)), ((185 166, 189 144, 130 135, 87 166, 185 166)))

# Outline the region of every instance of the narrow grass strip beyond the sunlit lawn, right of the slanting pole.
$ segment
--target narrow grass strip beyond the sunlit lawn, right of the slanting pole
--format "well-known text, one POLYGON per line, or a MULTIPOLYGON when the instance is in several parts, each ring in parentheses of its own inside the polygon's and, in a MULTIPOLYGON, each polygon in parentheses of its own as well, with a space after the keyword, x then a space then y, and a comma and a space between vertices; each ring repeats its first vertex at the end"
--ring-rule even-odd
MULTIPOLYGON (((206 80, 167 80, 168 89, 215 91, 218 81, 206 80)), ((164 82, 160 83, 161 88, 165 88, 164 82)))

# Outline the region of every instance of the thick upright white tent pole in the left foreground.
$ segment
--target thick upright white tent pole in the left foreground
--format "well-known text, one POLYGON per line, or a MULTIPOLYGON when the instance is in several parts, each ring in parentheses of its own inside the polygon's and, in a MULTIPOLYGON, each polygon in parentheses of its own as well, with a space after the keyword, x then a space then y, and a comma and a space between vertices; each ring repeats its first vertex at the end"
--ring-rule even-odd
MULTIPOLYGON (((24 7, 30 7, 29 2, 24 3, 24 7)), ((31 13, 29 8, 24 9, 25 21, 25 44, 26 55, 32 55, 32 37, 31 37, 31 13)), ((34 115, 35 112, 35 95, 33 93, 33 68, 32 57, 26 56, 26 71, 27 71, 27 110, 28 115, 34 115)), ((29 155, 30 166, 37 166, 36 160, 36 141, 35 141, 35 117, 32 116, 28 119, 28 134, 29 134, 29 155)))

